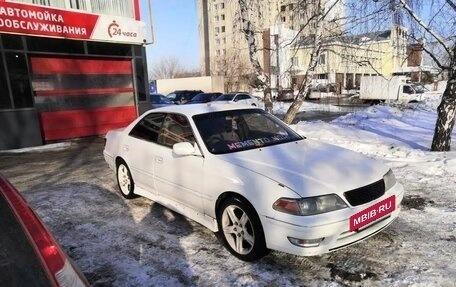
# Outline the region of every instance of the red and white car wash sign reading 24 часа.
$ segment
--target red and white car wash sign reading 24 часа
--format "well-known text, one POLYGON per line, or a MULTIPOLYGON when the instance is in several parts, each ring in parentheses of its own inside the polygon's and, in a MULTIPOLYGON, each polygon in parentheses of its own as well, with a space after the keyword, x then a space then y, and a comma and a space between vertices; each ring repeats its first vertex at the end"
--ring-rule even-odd
POLYGON ((133 44, 146 38, 145 24, 131 18, 1 0, 0 32, 133 44))

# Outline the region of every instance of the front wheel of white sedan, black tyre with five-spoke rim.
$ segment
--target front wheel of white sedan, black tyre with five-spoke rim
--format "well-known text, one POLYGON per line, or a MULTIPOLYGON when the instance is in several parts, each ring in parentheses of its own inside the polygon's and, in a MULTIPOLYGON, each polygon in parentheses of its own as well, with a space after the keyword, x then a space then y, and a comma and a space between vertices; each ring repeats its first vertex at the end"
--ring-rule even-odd
POLYGON ((217 223, 223 244, 237 258, 254 261, 268 253, 260 218, 245 200, 231 197, 223 201, 217 223))

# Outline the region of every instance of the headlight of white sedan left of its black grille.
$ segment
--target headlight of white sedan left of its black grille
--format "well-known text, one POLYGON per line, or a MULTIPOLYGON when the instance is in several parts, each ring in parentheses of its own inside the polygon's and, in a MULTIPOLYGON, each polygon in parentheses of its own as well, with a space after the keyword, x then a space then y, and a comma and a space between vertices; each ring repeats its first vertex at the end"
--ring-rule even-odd
POLYGON ((347 204, 336 194, 306 198, 279 198, 272 208, 293 215, 315 215, 347 208, 347 204))

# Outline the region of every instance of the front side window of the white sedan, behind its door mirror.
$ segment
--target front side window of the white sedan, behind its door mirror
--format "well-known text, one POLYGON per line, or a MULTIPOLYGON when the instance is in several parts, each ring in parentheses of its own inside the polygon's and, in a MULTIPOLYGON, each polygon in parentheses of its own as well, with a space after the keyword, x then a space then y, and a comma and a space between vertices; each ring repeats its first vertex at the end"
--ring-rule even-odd
POLYGON ((167 114, 158 136, 158 143, 172 147, 179 142, 195 142, 188 119, 179 114, 167 114))

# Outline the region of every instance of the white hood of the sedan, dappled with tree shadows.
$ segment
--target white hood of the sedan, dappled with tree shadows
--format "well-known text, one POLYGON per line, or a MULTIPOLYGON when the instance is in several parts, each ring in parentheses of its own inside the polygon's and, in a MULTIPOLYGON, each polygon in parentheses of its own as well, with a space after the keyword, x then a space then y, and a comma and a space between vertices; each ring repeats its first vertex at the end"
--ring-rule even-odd
POLYGON ((285 185, 302 197, 342 194, 380 180, 388 171, 360 153, 305 139, 222 156, 230 164, 285 185))

